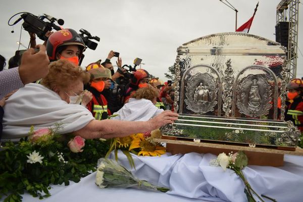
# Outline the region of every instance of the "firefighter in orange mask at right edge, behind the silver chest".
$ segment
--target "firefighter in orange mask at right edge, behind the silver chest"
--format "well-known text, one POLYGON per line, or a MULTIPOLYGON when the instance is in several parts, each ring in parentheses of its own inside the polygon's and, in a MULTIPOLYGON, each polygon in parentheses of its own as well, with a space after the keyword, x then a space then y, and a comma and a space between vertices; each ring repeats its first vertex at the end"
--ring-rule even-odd
POLYGON ((303 131, 303 81, 301 79, 291 79, 286 85, 287 89, 287 109, 285 121, 292 121, 295 126, 303 131))

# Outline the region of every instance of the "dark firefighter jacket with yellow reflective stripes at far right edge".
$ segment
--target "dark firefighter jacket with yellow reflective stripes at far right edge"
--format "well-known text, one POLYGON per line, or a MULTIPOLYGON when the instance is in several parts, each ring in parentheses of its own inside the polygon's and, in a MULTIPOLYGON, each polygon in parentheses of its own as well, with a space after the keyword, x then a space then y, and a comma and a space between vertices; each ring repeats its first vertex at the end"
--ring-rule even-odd
POLYGON ((303 132, 303 99, 298 97, 287 106, 285 121, 292 121, 303 132))

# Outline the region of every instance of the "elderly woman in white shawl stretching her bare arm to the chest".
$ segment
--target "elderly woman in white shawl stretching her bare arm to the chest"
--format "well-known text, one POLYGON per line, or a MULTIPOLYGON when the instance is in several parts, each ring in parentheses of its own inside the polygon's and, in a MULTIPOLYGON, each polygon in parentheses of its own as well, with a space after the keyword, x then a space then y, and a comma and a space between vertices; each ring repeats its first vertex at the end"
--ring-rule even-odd
POLYGON ((123 137, 177 120, 177 114, 170 111, 148 121, 95 120, 85 107, 78 105, 83 82, 88 80, 89 75, 69 61, 51 63, 41 84, 27 84, 7 100, 2 140, 18 141, 27 136, 31 126, 39 129, 57 123, 62 124, 60 134, 73 133, 86 139, 123 137))

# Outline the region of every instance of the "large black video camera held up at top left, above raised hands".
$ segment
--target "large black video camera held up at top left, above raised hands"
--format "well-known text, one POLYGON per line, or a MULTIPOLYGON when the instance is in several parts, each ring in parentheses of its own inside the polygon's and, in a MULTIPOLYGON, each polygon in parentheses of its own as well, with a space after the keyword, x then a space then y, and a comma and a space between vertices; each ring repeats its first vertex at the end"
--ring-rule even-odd
MULTIPOLYGON (((55 21, 58 22, 59 25, 63 25, 64 24, 64 20, 62 19, 56 19, 52 16, 49 16, 47 14, 43 14, 41 16, 35 16, 31 13, 27 13, 27 12, 22 12, 23 14, 21 15, 21 17, 16 20, 13 24, 10 24, 10 20, 21 13, 17 13, 14 16, 12 16, 8 22, 8 24, 10 26, 13 26, 15 24, 17 24, 20 20, 24 20, 22 26, 23 28, 28 31, 28 32, 33 32, 35 33, 41 40, 47 40, 47 37, 45 36, 45 33, 47 31, 52 31, 52 29, 55 30, 61 30, 62 28, 55 25, 55 21), (49 22, 45 22, 43 21, 44 19, 49 20, 49 22)), ((14 31, 12 31, 13 33, 14 31)))

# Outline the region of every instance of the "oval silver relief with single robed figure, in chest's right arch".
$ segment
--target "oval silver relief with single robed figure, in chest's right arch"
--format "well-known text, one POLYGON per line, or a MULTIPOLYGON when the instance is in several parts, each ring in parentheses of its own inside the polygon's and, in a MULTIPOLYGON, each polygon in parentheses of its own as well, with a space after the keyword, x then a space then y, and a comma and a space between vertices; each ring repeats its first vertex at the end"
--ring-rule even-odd
POLYGON ((239 113, 250 117, 268 114, 272 108, 271 96, 272 90, 266 76, 249 74, 238 83, 236 105, 239 113))

